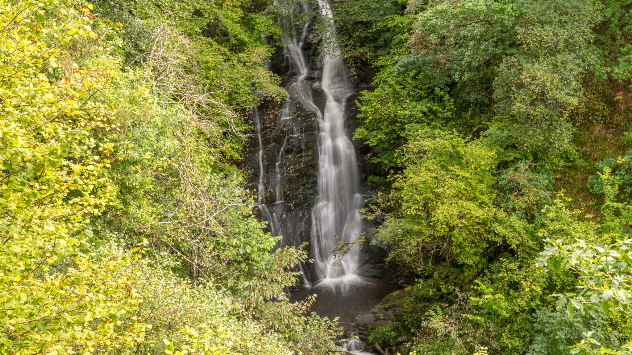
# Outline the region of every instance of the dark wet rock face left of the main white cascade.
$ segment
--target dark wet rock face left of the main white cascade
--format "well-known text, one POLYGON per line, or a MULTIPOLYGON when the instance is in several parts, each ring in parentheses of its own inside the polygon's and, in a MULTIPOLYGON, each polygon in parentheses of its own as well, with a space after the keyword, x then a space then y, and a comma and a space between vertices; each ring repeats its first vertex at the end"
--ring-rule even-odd
MULTIPOLYGON (((310 64, 310 73, 315 72, 313 66, 312 47, 305 45, 305 63, 310 64)), ((276 56, 270 63, 270 69, 280 75, 282 84, 290 99, 286 102, 265 100, 258 105, 261 124, 261 138, 264 148, 262 155, 263 172, 258 164, 258 137, 254 134, 245 142, 243 159, 238 166, 247 171, 246 178, 251 190, 257 190, 260 174, 264 181, 264 201, 270 217, 278 220, 279 232, 283 239, 277 243, 277 248, 283 246, 300 246, 310 241, 311 210, 318 195, 318 147, 316 114, 301 104, 300 95, 295 87, 296 75, 291 61, 284 55, 283 49, 278 49, 276 56)), ((317 74, 306 78, 314 98, 322 97, 319 89, 317 74)), ((322 101, 322 100, 321 100, 322 101)), ((324 105, 314 99, 317 106, 324 105)), ((319 107, 322 110, 322 107, 319 107)), ((265 216, 260 216, 266 219, 265 216)), ((269 224, 269 231, 272 231, 269 224)), ((309 248, 308 248, 309 251, 309 248)), ((310 265, 305 265, 303 272, 308 280, 313 279, 310 265)))

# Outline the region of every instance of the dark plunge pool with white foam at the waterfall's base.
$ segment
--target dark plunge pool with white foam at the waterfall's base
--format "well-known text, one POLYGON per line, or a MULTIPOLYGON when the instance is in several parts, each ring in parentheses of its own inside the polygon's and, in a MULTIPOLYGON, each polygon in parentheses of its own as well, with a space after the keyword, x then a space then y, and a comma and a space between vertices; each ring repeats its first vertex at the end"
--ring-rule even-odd
POLYGON ((301 301, 310 294, 316 294, 311 311, 329 319, 339 317, 339 325, 349 328, 380 303, 384 296, 399 289, 403 289, 403 286, 368 277, 346 275, 336 279, 318 280, 311 287, 292 292, 290 300, 301 301))

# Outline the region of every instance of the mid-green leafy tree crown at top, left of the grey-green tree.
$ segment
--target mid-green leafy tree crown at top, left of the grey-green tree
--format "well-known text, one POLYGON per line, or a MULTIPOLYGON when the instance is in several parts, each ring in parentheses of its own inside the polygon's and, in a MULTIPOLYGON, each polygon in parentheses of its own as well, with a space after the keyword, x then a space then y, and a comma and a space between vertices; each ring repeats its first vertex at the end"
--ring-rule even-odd
POLYGON ((399 70, 423 68, 439 87, 453 87, 457 105, 489 104, 494 67, 515 51, 514 28, 526 7, 525 1, 433 4, 417 16, 413 54, 401 59, 399 70))

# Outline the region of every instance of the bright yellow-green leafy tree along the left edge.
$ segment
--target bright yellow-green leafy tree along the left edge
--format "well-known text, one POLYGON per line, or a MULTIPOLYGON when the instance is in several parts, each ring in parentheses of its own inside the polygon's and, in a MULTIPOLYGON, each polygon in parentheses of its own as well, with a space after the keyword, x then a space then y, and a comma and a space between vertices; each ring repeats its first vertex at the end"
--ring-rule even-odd
POLYGON ((103 107, 86 100, 110 75, 64 59, 64 45, 94 33, 70 8, 46 22, 51 6, 0 0, 1 354, 94 352, 149 327, 113 318, 137 306, 119 266, 138 255, 84 242, 86 217, 114 196, 91 151, 103 107))

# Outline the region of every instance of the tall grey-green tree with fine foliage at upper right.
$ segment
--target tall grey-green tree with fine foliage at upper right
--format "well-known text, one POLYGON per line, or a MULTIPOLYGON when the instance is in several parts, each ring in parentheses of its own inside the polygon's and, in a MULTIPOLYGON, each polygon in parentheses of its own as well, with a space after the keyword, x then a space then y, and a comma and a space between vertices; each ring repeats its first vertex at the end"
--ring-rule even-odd
POLYGON ((583 76, 598 64, 590 45, 597 20, 588 2, 534 2, 516 28, 522 51, 497 70, 495 110, 508 121, 493 129, 551 168, 573 156, 568 118, 584 99, 583 76))

